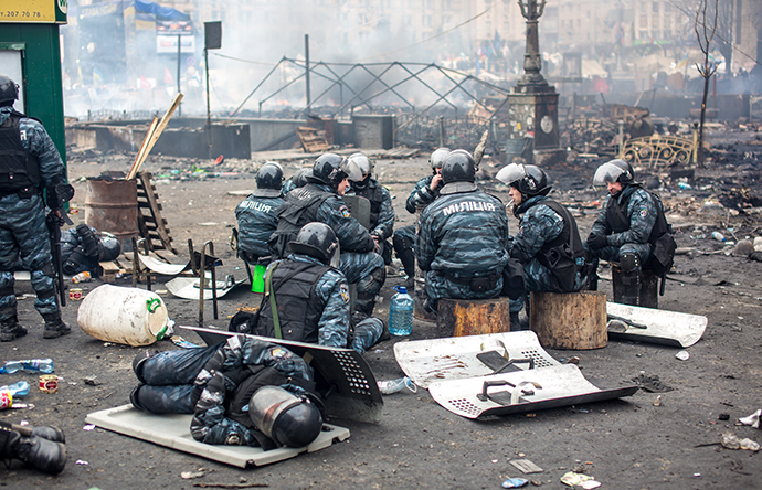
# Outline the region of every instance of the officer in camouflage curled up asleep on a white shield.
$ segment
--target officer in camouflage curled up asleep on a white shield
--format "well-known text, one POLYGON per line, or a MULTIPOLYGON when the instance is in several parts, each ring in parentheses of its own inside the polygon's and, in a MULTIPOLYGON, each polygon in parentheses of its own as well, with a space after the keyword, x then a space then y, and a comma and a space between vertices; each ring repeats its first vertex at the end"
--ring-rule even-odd
POLYGON ((265 450, 304 447, 322 427, 313 369, 288 349, 235 335, 216 345, 133 361, 139 384, 129 400, 154 414, 193 414, 199 443, 265 450))

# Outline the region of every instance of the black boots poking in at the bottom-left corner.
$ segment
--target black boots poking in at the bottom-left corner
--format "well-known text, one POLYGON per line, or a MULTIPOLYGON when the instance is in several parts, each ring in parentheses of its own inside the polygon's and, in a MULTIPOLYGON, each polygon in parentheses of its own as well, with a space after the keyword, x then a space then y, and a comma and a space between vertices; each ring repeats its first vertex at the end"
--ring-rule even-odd
POLYGON ((66 466, 66 447, 38 436, 22 436, 0 422, 0 457, 19 459, 40 471, 59 475, 66 466))

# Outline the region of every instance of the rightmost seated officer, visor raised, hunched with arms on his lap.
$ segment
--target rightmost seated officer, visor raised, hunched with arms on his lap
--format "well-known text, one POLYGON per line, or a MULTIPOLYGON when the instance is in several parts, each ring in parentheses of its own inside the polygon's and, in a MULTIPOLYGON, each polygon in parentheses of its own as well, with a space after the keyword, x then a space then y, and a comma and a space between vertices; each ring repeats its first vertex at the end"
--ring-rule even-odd
POLYGON ((633 167, 620 159, 599 167, 593 185, 605 185, 608 195, 593 223, 586 247, 595 258, 595 268, 599 258, 620 263, 622 302, 637 305, 643 265, 649 264, 652 251, 659 251, 663 264, 670 265, 674 255, 674 246, 666 252, 666 257, 662 247, 655 248, 662 239, 671 239, 662 200, 636 183, 633 167))

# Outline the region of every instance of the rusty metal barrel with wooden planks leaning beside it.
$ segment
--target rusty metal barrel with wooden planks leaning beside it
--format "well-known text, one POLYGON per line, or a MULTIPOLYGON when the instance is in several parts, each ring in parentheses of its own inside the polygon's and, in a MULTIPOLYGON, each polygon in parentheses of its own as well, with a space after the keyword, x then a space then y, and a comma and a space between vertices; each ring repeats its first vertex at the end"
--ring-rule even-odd
POLYGON ((85 223, 114 234, 123 251, 131 249, 138 232, 138 182, 124 179, 87 179, 85 223))

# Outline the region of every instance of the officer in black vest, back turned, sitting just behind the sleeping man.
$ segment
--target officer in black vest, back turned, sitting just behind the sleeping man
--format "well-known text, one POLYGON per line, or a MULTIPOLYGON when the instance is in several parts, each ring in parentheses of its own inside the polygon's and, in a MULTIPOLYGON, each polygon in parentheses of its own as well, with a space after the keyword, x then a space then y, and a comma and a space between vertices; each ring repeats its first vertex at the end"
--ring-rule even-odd
POLYGON ((353 330, 350 328, 349 286, 341 270, 331 267, 339 254, 334 230, 325 223, 307 223, 288 249, 287 258, 267 267, 258 320, 255 324, 234 326, 233 330, 349 347, 360 353, 375 344, 384 334, 380 319, 364 318, 353 330))

